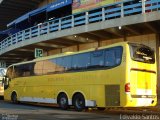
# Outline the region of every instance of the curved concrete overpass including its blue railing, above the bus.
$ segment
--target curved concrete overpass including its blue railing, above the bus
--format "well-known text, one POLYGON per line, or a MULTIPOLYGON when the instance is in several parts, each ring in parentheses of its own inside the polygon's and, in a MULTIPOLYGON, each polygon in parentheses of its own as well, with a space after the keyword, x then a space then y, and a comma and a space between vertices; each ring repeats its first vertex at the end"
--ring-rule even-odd
MULTIPOLYGON (((0 57, 7 64, 34 59, 34 49, 41 48, 46 55, 52 50, 104 40, 156 34, 159 46, 160 0, 148 3, 119 2, 88 12, 55 19, 20 31, 0 42, 0 57), (149 4, 149 6, 146 6, 149 4)), ((157 55, 159 51, 157 50, 157 55)))

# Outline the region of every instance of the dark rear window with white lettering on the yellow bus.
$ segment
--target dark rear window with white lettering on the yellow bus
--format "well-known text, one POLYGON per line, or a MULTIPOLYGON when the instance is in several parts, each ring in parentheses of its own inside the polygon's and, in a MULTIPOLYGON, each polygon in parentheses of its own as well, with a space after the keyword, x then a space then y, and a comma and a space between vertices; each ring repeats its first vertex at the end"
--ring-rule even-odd
POLYGON ((149 64, 155 63, 154 51, 150 47, 132 43, 129 45, 132 60, 149 64))

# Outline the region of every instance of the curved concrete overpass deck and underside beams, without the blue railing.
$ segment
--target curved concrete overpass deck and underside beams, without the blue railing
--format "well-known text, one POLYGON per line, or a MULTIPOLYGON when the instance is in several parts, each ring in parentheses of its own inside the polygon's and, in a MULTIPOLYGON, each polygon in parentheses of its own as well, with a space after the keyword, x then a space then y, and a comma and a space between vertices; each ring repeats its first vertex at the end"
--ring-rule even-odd
POLYGON ((155 11, 59 30, 5 47, 0 51, 1 59, 7 62, 19 62, 24 58, 33 59, 35 48, 49 51, 75 44, 100 42, 104 39, 159 33, 159 20, 160 13, 155 11), (120 26, 121 29, 119 29, 120 26))

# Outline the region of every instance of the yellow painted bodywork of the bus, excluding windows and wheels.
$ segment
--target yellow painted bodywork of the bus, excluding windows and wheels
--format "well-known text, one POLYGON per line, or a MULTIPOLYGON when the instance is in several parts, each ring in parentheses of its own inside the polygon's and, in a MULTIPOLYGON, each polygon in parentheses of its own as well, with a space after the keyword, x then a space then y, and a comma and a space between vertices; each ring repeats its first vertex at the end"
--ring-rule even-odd
MULTIPOLYGON (((131 95, 137 95, 137 89, 142 92, 146 90, 146 94, 150 94, 151 90, 151 95, 156 95, 156 74, 131 71, 131 68, 156 71, 156 63, 145 64, 131 60, 126 42, 108 47, 113 46, 123 47, 122 61, 117 67, 107 70, 14 78, 9 88, 5 90, 4 99, 11 100, 11 94, 15 91, 18 100, 25 97, 57 100, 58 94, 64 92, 72 101, 73 95, 80 92, 85 100, 96 101, 96 107, 137 107, 142 99, 137 100, 131 95), (131 83, 130 94, 125 93, 125 84, 128 82, 131 83)), ((154 104, 149 106, 155 106, 156 103, 157 97, 154 98, 154 104)))

